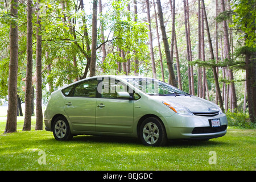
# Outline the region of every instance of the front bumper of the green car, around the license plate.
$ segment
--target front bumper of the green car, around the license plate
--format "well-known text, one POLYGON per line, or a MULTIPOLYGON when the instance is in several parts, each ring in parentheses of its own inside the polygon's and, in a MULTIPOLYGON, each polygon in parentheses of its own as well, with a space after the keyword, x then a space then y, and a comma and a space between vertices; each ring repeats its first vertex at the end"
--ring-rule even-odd
POLYGON ((164 118, 168 139, 210 139, 226 134, 228 120, 224 113, 214 117, 174 114, 164 118), (220 119, 220 127, 211 127, 210 119, 220 119))

